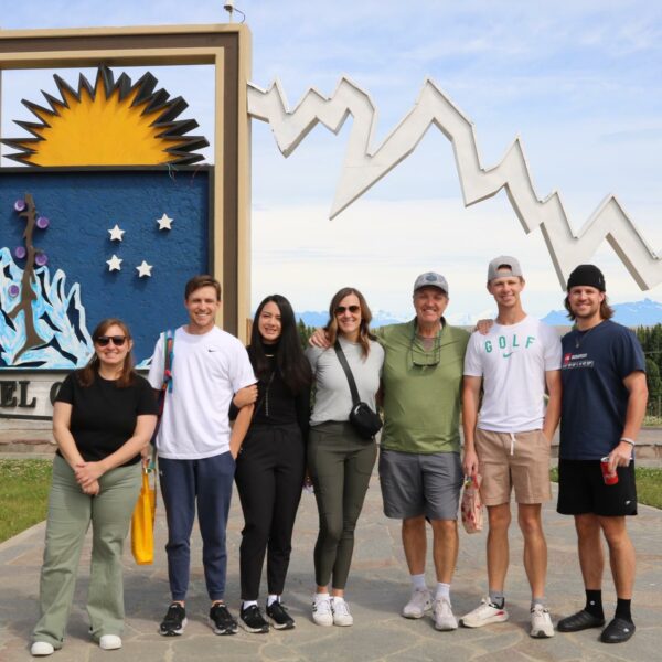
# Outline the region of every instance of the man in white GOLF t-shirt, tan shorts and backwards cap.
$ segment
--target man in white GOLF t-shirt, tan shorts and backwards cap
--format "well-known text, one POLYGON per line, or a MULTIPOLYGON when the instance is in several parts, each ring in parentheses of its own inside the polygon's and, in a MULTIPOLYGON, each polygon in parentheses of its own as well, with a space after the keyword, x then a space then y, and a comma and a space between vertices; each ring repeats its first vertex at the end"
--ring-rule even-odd
POLYGON ((499 314, 487 334, 471 335, 465 355, 463 468, 470 477, 480 469, 490 531, 489 596, 460 622, 479 628, 508 619, 504 584, 514 488, 532 592, 531 636, 546 638, 554 634, 554 627, 544 605, 547 544, 541 505, 552 498, 549 444, 560 415, 560 339, 551 327, 524 312, 523 289, 522 268, 514 257, 502 255, 490 263, 488 291, 499 314), (545 387, 549 395, 546 409, 545 387))

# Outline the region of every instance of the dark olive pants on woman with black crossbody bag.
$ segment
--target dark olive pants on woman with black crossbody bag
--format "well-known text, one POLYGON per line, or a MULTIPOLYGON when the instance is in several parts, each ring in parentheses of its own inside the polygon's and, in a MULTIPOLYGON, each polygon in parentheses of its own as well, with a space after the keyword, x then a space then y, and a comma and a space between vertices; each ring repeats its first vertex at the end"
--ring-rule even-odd
POLYGON ((377 457, 374 441, 356 435, 349 423, 323 423, 310 428, 308 470, 314 487, 320 532, 314 546, 318 586, 344 589, 354 528, 377 457))

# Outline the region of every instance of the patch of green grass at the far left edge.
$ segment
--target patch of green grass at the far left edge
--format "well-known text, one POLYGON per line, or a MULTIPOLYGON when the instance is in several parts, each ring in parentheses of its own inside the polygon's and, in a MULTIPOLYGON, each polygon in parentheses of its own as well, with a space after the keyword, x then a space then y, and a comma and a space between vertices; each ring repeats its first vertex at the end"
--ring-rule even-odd
POLYGON ((52 466, 0 459, 0 543, 45 519, 52 466))

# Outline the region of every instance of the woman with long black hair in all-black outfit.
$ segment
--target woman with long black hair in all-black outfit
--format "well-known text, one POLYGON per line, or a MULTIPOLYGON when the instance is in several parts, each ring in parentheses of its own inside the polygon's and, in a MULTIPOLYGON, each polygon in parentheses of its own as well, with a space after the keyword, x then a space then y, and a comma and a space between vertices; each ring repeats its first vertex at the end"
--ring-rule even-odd
MULTIPOLYGON (((257 604, 265 552, 267 618, 278 630, 295 627, 280 596, 306 471, 312 376, 292 307, 285 297, 271 295, 258 306, 248 355, 258 378, 258 395, 235 471, 245 520, 239 549, 239 624, 257 633, 269 631, 257 604)), ((235 405, 242 404, 241 397, 235 397, 235 405)))

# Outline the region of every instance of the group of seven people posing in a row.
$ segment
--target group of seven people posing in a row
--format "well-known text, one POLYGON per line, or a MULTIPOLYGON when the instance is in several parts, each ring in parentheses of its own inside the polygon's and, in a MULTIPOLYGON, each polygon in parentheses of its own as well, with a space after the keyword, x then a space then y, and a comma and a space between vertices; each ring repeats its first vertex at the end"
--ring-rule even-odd
POLYGON ((626 516, 637 513, 633 447, 648 397, 643 353, 631 331, 610 321, 612 310, 597 267, 580 265, 569 275, 565 306, 575 325, 563 341, 524 312, 524 286, 515 258, 492 260, 488 290, 498 317, 480 323, 471 335, 446 322, 449 287, 440 274, 416 279, 412 321, 374 331, 362 293, 343 288, 331 300, 328 324, 303 351, 285 297, 274 295, 260 302, 246 349, 215 325, 220 284, 211 276, 196 276, 184 292, 189 321, 161 334, 148 380, 134 371, 126 324, 104 320, 93 333, 89 364, 67 376, 54 406, 58 450, 32 654, 47 655, 63 644, 90 524, 90 634, 104 650, 121 647, 122 544, 139 491, 140 456, 157 425, 154 393, 164 382, 156 447, 168 522, 171 601, 161 634, 182 634, 186 626, 196 511, 214 632, 233 634, 242 627, 265 633, 270 627, 295 627, 281 598, 305 484, 313 487, 319 513, 312 620, 319 626, 353 623, 345 587, 354 530, 377 458, 374 435, 354 416, 360 401, 370 413, 382 408, 378 472, 384 513, 402 521, 412 583, 402 610, 405 618, 421 618, 431 610, 438 630, 509 618, 504 585, 514 490, 532 594, 530 633, 554 636, 545 601, 547 549, 541 506, 552 495, 549 447, 560 420, 557 510, 575 517, 586 605, 562 619, 557 629, 605 624, 604 535, 618 602, 600 637, 610 643, 627 641, 634 632, 634 552, 626 516), (611 480, 605 481, 605 474, 611 480), (481 481, 488 509, 488 595, 458 621, 450 586, 467 476, 481 481), (245 520, 238 619, 225 604, 225 530, 233 481, 245 520), (433 590, 425 573, 428 523, 433 590), (258 600, 265 556, 263 610, 258 600))

